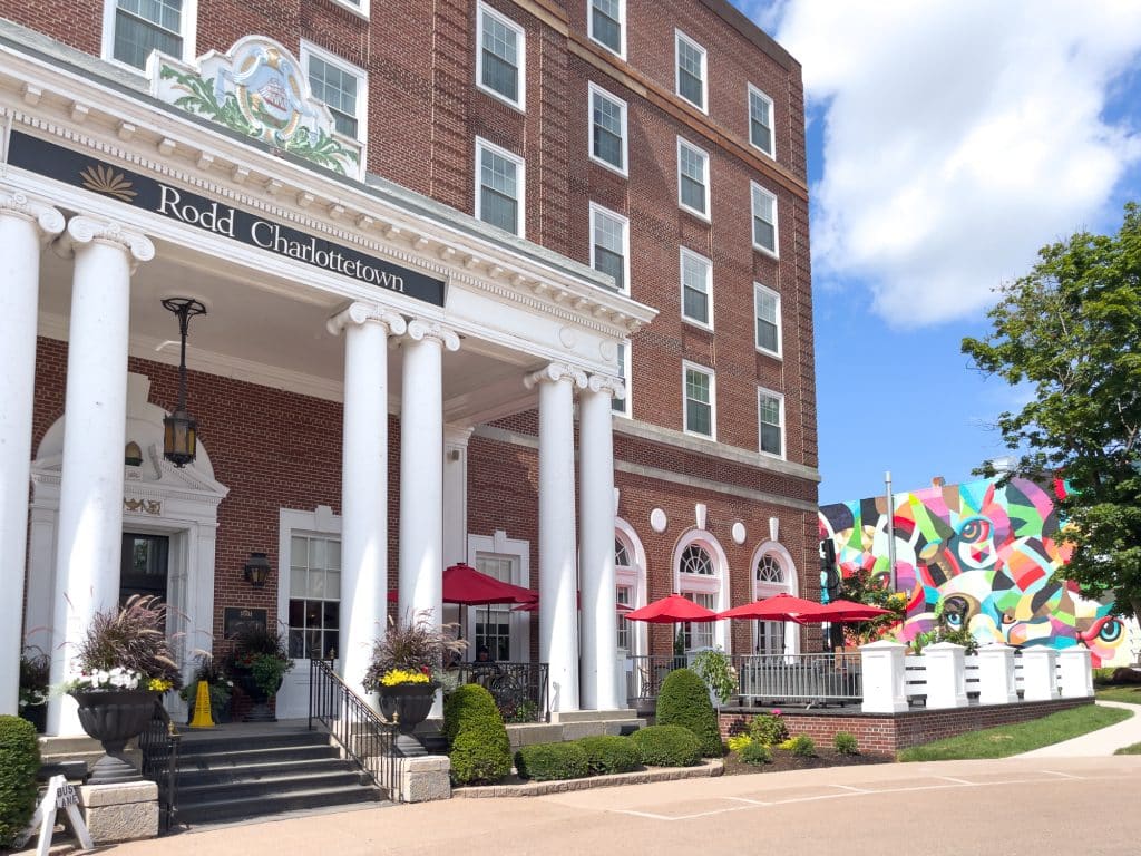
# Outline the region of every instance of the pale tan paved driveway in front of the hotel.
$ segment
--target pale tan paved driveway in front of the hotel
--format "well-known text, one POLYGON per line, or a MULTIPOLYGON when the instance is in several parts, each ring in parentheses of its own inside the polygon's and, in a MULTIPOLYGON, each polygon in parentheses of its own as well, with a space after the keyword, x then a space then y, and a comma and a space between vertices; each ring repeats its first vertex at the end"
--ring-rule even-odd
POLYGON ((836 767, 294 817, 115 856, 843 854, 1141 850, 1141 756, 836 767))

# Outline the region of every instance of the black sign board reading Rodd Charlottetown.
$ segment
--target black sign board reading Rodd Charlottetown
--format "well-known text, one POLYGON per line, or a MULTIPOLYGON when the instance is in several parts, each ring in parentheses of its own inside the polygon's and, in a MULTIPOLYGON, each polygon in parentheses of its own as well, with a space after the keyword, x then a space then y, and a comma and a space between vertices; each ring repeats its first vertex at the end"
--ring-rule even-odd
POLYGON ((38 137, 13 131, 8 163, 367 285, 407 294, 432 306, 444 305, 443 280, 97 161, 38 137))

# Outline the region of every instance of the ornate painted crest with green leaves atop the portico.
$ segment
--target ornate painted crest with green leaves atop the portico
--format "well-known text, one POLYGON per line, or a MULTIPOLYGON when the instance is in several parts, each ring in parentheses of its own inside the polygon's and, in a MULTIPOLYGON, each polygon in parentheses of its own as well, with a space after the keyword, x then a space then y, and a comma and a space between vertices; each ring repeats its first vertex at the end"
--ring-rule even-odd
POLYGON ((361 143, 337 132, 297 57, 273 39, 246 35, 192 64, 155 53, 147 73, 160 100, 334 172, 363 176, 361 143))

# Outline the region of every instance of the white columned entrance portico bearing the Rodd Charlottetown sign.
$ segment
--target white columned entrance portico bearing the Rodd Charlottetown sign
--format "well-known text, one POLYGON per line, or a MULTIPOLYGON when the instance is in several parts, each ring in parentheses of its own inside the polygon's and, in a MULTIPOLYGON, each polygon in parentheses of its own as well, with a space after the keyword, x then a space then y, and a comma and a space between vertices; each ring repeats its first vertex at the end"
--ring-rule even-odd
MULTIPOLYGON (((149 420, 152 430, 162 409, 148 398, 145 379, 129 380, 128 361, 177 364, 177 332, 160 301, 187 296, 208 307, 191 332, 192 371, 341 407, 340 436, 325 441, 341 444, 338 651, 350 685, 359 685, 369 643, 382 627, 390 575, 399 580, 402 613, 443 614, 440 573, 463 558, 446 550, 467 542, 464 516, 444 487, 445 429, 451 460, 463 454, 455 438, 464 430, 537 406, 539 635, 557 684, 552 709, 621 706, 609 402, 622 391, 617 346, 654 310, 582 265, 431 200, 275 156, 201 116, 156 107, 122 80, 100 76, 102 68, 78 74, 70 59, 0 41, 0 242, 14 286, 0 307, 10 307, 0 312, 7 369, 0 391, 18 404, 0 418, 5 471, 16 476, 0 484, 0 574, 6 592, 22 590, 24 539, 10 535, 29 525, 34 458, 27 562, 34 586, 23 635, 40 635, 52 679, 67 675, 90 616, 120 596, 129 526, 173 535, 168 599, 194 639, 183 655, 220 641, 213 637, 225 601, 215 597, 216 581, 233 568, 216 565, 215 539, 238 543, 226 532, 227 503, 236 501, 234 493, 227 499, 229 474, 245 477, 250 467, 277 474, 272 460, 249 457, 257 444, 228 425, 202 426, 212 459, 200 449, 185 470, 161 460, 161 437, 132 435, 131 420, 149 420), (270 233, 293 235, 301 249, 258 240, 270 233), (46 252, 56 234, 57 251, 46 252), (67 342, 67 391, 60 426, 33 450, 37 333, 67 342), (395 527, 387 512, 389 414, 399 418, 395 527), (141 476, 124 467, 129 442, 144 452, 141 476), (143 483, 155 493, 132 494, 143 483), (157 504, 124 506, 144 499, 157 504), (176 517, 178 502, 192 499, 199 510, 176 517), (398 556, 391 572, 390 542, 398 556), (583 640, 581 673, 580 584, 583 621, 598 628, 583 640)), ((199 390, 201 409, 209 390, 199 390)), ((192 396, 188 409, 195 407, 192 396)), ((253 422, 256 405, 243 415, 253 422)), ((277 533, 249 538, 242 549, 276 541, 277 533)), ((245 597, 227 595, 238 596, 245 597)), ((5 608, 18 611, 19 600, 9 596, 5 608)), ((281 598, 276 609, 284 609, 281 598)), ((18 613, 8 617, 0 712, 15 712, 24 643, 10 630, 21 625, 18 613)), ((52 703, 49 730, 78 732, 67 704, 52 703)))

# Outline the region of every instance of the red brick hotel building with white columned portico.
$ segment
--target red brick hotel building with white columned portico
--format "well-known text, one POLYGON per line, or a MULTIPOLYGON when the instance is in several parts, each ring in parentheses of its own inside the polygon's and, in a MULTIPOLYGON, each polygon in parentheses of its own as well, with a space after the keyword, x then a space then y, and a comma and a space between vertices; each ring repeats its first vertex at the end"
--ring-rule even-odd
POLYGON ((672 651, 615 600, 816 593, 800 66, 726 0, 0 0, 0 116, 6 711, 127 591, 354 684, 395 591, 564 711, 672 651), (443 605, 461 560, 537 612, 443 605))

